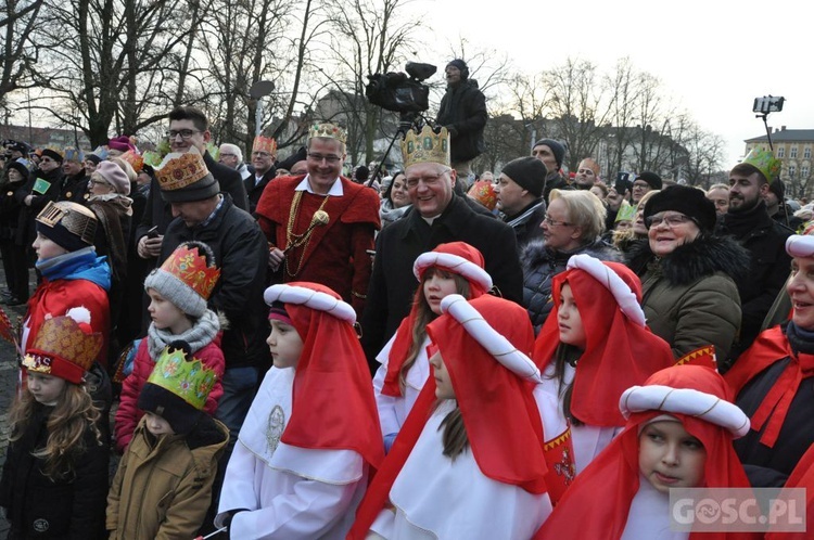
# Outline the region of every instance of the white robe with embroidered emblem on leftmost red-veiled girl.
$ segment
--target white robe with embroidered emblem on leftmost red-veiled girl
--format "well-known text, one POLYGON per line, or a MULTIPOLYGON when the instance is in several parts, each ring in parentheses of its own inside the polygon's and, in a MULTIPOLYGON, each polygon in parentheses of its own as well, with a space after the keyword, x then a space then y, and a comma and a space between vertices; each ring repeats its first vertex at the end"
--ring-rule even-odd
POLYGON ((295 368, 271 368, 252 402, 226 468, 219 527, 234 515, 230 538, 344 539, 367 488, 367 465, 352 450, 280 442, 291 417, 295 368))

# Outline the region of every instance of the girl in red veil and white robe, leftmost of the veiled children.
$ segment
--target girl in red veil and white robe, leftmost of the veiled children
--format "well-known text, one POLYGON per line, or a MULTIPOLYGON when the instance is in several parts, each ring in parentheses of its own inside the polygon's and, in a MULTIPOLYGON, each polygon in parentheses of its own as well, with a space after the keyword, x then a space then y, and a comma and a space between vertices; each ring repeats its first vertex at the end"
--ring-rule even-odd
POLYGON ((384 457, 354 309, 316 283, 272 285, 274 367, 226 470, 229 538, 344 539, 384 457))

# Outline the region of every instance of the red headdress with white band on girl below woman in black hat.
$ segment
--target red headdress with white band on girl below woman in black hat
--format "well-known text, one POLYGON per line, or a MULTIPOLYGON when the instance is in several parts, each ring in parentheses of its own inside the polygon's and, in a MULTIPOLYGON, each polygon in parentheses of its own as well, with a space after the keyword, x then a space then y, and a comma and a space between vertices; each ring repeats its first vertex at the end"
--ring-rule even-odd
POLYGON ((627 267, 575 255, 551 286, 554 309, 534 346, 534 361, 545 370, 560 345, 560 291, 568 283, 585 329, 587 345, 576 365, 571 412, 594 426, 622 426, 616 403, 622 393, 652 373, 673 365, 664 339, 645 325, 641 283, 627 267))

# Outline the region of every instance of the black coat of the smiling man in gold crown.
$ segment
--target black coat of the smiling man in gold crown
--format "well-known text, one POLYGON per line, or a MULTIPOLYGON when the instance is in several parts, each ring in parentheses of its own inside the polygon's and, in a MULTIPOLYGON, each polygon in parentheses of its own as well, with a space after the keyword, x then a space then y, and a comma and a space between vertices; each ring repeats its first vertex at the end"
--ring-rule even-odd
POLYGON ((456 241, 480 249, 486 271, 504 298, 521 303, 523 275, 514 231, 509 226, 474 213, 458 196, 453 196, 432 227, 420 213, 410 211, 377 237, 373 273, 361 316, 361 344, 371 367, 378 367, 376 356, 410 311, 418 286, 412 274, 416 258, 438 244, 456 241))

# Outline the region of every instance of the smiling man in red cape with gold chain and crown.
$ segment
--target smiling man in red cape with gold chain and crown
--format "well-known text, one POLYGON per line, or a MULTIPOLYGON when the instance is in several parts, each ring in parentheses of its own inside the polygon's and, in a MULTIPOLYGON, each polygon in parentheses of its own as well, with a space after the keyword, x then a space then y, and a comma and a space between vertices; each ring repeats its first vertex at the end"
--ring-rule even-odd
POLYGON ((268 239, 274 282, 321 283, 360 314, 370 281, 369 252, 381 228, 379 195, 341 176, 345 141, 339 126, 313 125, 307 175, 269 182, 255 214, 268 239))

